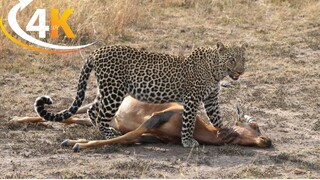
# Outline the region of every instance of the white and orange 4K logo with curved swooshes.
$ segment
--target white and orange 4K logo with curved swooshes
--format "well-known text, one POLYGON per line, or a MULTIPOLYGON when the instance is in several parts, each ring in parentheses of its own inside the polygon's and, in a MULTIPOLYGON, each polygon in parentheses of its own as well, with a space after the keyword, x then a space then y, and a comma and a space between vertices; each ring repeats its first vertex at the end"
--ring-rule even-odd
POLYGON ((34 46, 29 46, 25 43, 22 43, 21 41, 17 40, 16 38, 12 37, 4 28, 2 23, 2 18, 0 18, 0 26, 4 34, 13 42, 16 44, 32 49, 39 52, 46 52, 46 53, 54 53, 54 54, 66 54, 71 52, 76 52, 81 50, 82 48, 85 48, 87 46, 92 45, 86 44, 82 46, 61 46, 61 45, 55 45, 55 44, 49 44, 47 42, 41 41, 40 39, 46 38, 46 34, 48 31, 51 33, 51 38, 58 38, 59 37, 59 29, 62 29, 66 36, 68 38, 75 38, 75 34, 71 30, 69 24, 67 23, 67 19, 72 14, 73 9, 67 9, 65 10, 61 16, 59 16, 59 9, 51 9, 50 15, 51 15, 51 26, 48 26, 46 24, 46 9, 37 9, 33 16, 31 17, 30 21, 28 22, 26 26, 26 31, 35 31, 39 34, 39 39, 36 39, 29 34, 27 34, 24 30, 21 29, 17 22, 17 13, 18 11, 22 11, 25 7, 27 7, 33 0, 20 0, 20 2, 15 5, 8 14, 8 23, 9 26, 12 28, 12 30, 21 38, 28 41, 29 43, 33 43, 37 46, 43 47, 43 48, 49 48, 49 49, 43 49, 38 48, 34 46), (38 25, 36 25, 36 22, 38 20, 38 25))

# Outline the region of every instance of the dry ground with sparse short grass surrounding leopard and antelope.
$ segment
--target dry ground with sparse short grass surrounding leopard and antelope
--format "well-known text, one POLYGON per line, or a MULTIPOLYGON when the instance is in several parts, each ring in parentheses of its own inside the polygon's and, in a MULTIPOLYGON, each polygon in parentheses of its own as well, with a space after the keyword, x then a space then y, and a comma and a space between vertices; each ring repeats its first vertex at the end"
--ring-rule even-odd
MULTIPOLYGON (((320 178, 320 2, 140 3, 144 18, 81 53, 36 53, 0 34, 0 178, 320 178), (96 128, 10 122, 36 115, 33 103, 42 95, 53 98, 52 111, 67 108, 85 57, 102 45, 188 55, 217 41, 249 43, 246 73, 238 81, 226 78, 232 88, 221 90, 226 126, 240 102, 272 148, 144 144, 74 153, 60 143, 101 139, 96 128)), ((94 80, 92 75, 84 104, 95 97, 94 80)))

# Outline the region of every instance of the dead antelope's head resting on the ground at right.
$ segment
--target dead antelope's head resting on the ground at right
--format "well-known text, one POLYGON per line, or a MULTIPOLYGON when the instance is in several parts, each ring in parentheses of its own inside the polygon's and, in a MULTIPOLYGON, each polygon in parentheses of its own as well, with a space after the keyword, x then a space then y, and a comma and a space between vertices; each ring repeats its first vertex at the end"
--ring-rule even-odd
POLYGON ((237 118, 235 126, 232 129, 238 134, 237 138, 233 140, 233 144, 271 147, 271 139, 262 134, 256 119, 251 116, 243 115, 242 110, 237 106, 237 118))

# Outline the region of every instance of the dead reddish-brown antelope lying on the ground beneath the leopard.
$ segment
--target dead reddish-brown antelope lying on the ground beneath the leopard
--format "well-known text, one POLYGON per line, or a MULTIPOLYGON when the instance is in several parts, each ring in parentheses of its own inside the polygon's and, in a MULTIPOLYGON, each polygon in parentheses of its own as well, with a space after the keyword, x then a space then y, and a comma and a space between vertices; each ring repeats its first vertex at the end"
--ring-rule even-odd
MULTIPOLYGON (((85 113, 91 104, 80 108, 77 114, 85 113)), ((65 140, 62 146, 72 146, 73 151, 96 148, 111 144, 135 144, 145 142, 150 136, 167 143, 181 143, 183 107, 178 103, 148 104, 127 96, 121 104, 112 126, 123 135, 108 140, 88 141, 65 140)), ((17 122, 45 122, 41 117, 25 117, 17 122)), ((71 117, 65 124, 90 125, 90 120, 79 120, 71 117)), ((216 128, 210 124, 204 112, 198 111, 194 138, 202 144, 223 145, 238 144, 267 148, 272 145, 271 139, 260 132, 255 119, 244 116, 237 107, 236 123, 231 128, 216 128)))

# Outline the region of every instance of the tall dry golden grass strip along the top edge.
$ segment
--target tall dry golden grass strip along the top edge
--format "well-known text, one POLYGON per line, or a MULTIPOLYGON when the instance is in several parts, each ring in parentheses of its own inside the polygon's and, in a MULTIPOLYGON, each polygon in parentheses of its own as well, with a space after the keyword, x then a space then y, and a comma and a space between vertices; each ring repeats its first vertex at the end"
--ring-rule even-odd
MULTIPOLYGON (((8 7, 13 7, 15 4, 14 1, 1 2, 0 10, 4 21, 7 20, 6 17, 10 10, 8 7)), ((168 10, 179 12, 182 9, 199 17, 199 20, 201 18, 214 18, 214 21, 218 24, 242 26, 251 22, 257 25, 266 23, 271 25, 271 22, 283 22, 301 16, 317 20, 320 14, 319 6, 320 4, 316 0, 271 0, 262 2, 251 0, 166 0, 161 2, 109 0, 108 2, 89 2, 88 0, 79 0, 76 3, 71 0, 43 0, 32 2, 23 12, 18 14, 18 20, 21 27, 25 27, 36 8, 46 8, 49 11, 47 12, 47 24, 49 24, 50 9, 59 7, 63 11, 66 8, 74 8, 75 11, 68 19, 68 24, 74 30, 77 38, 65 38, 63 31, 60 31, 59 40, 56 40, 56 42, 61 43, 62 40, 62 43, 82 44, 99 41, 102 44, 107 44, 116 41, 113 39, 114 37, 130 36, 132 28, 152 28, 153 20, 156 19, 154 17, 168 10), (241 11, 238 11, 238 9, 241 9, 241 11)), ((13 33, 10 28, 7 29, 11 34, 13 33)), ((266 31, 263 28, 257 30, 262 34, 266 31)), ((53 40, 47 35, 45 41, 53 40)), ((3 34, 1 35, 1 42, 8 45, 3 34)))

